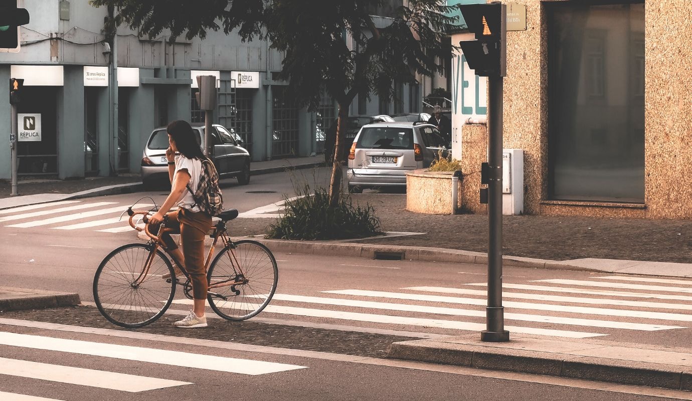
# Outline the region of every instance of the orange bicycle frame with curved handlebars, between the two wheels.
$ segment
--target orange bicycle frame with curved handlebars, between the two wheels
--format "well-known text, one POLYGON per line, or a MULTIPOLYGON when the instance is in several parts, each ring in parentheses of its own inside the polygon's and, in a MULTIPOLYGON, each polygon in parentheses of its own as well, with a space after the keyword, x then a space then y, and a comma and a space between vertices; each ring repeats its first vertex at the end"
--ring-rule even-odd
MULTIPOLYGON (((163 236, 163 234, 174 232, 174 230, 165 227, 165 223, 167 220, 164 220, 161 223, 161 227, 159 227, 159 229, 158 229, 158 233, 157 233, 158 235, 155 235, 149 231, 149 223, 145 223, 145 226, 142 228, 142 227, 138 227, 137 225, 135 225, 132 221, 134 216, 136 216, 138 214, 142 214, 142 215, 147 216, 149 214, 149 212, 132 212, 131 209, 129 209, 127 211, 127 214, 129 215, 129 225, 137 231, 144 231, 145 234, 147 234, 147 236, 149 236, 149 239, 151 239, 150 242, 152 243, 152 250, 149 252, 149 257, 147 257, 147 261, 145 261, 145 265, 143 266, 142 271, 140 272, 139 276, 135 279, 134 283, 132 283, 132 285, 138 286, 140 283, 142 283, 146 279, 147 274, 149 274, 149 268, 151 268, 152 261, 154 260, 154 255, 156 254, 156 250, 158 250, 158 248, 161 248, 163 250, 163 252, 165 252, 165 254, 167 254, 167 256, 170 257, 170 259, 172 259, 172 261, 174 261, 174 263, 176 263, 176 265, 179 266, 181 272, 183 272, 183 274, 185 275, 185 278, 189 281, 190 280, 190 274, 185 269, 185 266, 182 263, 180 263, 180 261, 178 261, 172 253, 170 253, 167 246, 165 245, 165 243, 161 239, 161 236, 163 236)), ((226 300, 228 298, 225 297, 224 295, 217 294, 216 292, 212 292, 211 290, 215 289, 215 288, 239 286, 239 285, 248 283, 248 280, 245 278, 244 272, 242 272, 242 268, 240 268, 240 263, 238 263, 235 252, 233 252, 233 249, 235 249, 235 245, 233 244, 233 241, 231 241, 230 237, 228 236, 228 232, 226 230, 227 230, 226 229, 226 222, 224 222, 224 221, 219 221, 214 226, 214 231, 211 234, 212 238, 214 238, 214 241, 212 242, 212 244, 209 248, 209 251, 207 253, 207 257, 204 261, 204 271, 206 272, 206 271, 208 271, 209 265, 212 261, 212 256, 214 255, 214 250, 215 250, 216 245, 219 241, 219 238, 221 238, 221 243, 223 245, 223 248, 221 248, 221 249, 226 249, 227 246, 230 246, 231 252, 230 252, 229 259, 230 259, 231 265, 233 265, 233 271, 235 272, 235 277, 229 278, 226 280, 222 280, 222 281, 218 281, 217 283, 209 283, 208 284, 208 294, 212 295, 213 297, 219 297, 219 298, 224 299, 224 300, 226 300), (240 279, 238 279, 239 277, 240 277, 240 279)), ((175 278, 171 278, 171 279, 176 280, 179 285, 184 286, 184 283, 181 283, 180 280, 175 279, 175 278)), ((234 292, 235 292, 235 289, 234 289, 234 292)))

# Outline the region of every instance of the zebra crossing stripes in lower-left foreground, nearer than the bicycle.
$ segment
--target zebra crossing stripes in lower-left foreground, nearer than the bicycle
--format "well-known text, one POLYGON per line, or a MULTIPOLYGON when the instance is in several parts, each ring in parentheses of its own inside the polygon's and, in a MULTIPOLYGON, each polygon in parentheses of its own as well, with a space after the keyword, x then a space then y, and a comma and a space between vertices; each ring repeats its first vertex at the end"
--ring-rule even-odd
MULTIPOLYGON (((0 324, 7 324, 11 319, 0 319, 0 324)), ((12 321, 9 324, 21 326, 22 321, 12 321), (19 323, 17 323, 19 322, 19 323)), ((31 327, 32 322, 26 326, 31 327)), ((50 326, 51 324, 43 324, 50 326)), ((59 325, 54 325, 59 326, 59 325)), ((86 331, 85 331, 86 332, 86 331)), ((203 353, 189 353, 182 351, 170 351, 167 349, 147 348, 143 346, 127 346, 111 344, 109 342, 93 342, 77 339, 51 337, 50 335, 35 335, 10 333, 2 331, 0 326, 0 347, 11 346, 22 351, 21 355, 32 355, 33 351, 51 351, 60 354, 60 360, 69 360, 72 356, 80 361, 89 362, 89 357, 96 357, 93 364, 103 364, 103 358, 107 360, 127 360, 133 362, 146 362, 154 366, 176 366, 200 370, 201 375, 205 371, 215 371, 237 375, 266 375, 305 369, 307 366, 299 366, 278 362, 265 362, 263 360, 251 360, 237 357, 221 357, 203 353)), ((2 349, 2 348, 0 348, 2 349)), ((31 359, 31 356, 28 357, 31 359)), ((88 363, 91 366, 91 362, 88 363)), ((129 393, 141 393, 156 389, 175 388, 194 384, 183 380, 172 380, 155 377, 157 369, 147 369, 147 375, 134 375, 108 371, 107 369, 86 369, 82 367, 67 366, 63 364, 51 364, 35 362, 31 360, 0 357, 0 375, 11 377, 25 377, 43 380, 46 382, 75 384, 91 388, 106 389, 112 391, 125 391, 129 393)), ((167 369, 162 369, 166 372, 167 369)), ((194 375, 185 375, 187 380, 194 375)), ((11 380, 6 380, 6 383, 11 380)), ((34 395, 10 393, 0 391, 0 400, 18 401, 54 401, 67 398, 42 398, 34 395)))

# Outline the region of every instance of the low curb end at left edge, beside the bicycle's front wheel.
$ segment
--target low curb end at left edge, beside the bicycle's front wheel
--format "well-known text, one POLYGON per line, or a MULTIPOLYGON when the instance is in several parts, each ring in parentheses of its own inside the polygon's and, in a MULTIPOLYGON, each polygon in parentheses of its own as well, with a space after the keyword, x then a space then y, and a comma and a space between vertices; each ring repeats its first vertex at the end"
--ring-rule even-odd
POLYGON ((10 293, 0 298, 0 311, 56 308, 58 306, 78 306, 81 304, 80 295, 75 292, 54 292, 8 287, 0 287, 0 291, 10 293))

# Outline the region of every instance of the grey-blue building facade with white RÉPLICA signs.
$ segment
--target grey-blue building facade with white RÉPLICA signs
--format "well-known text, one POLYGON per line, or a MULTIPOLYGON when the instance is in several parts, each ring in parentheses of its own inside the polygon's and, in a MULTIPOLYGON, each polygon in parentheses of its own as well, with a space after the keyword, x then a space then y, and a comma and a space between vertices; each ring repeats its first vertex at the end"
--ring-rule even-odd
MULTIPOLYGON (((18 112, 37 116, 41 127, 34 140, 18 143, 19 176, 138 172, 154 128, 178 119, 203 122, 194 97, 197 75, 217 77, 212 120, 234 129, 254 161, 323 150, 336 103, 325 94, 316 111, 293 105, 287 82, 276 79, 282 55, 266 41, 243 43, 233 34, 208 32, 204 40, 169 43, 166 32, 147 39, 120 27, 116 44, 107 48, 106 8, 93 8, 88 0, 18 3, 31 21, 20 28, 19 52, 0 52, 0 91, 8 93, 10 78, 24 79, 18 112)), ((419 85, 401 85, 397 92, 394 102, 356 98, 350 113, 421 108, 419 85)), ((0 100, 0 127, 8 132, 10 117, 5 97, 0 100)), ((0 179, 9 179, 7 141, 0 141, 0 153, 7 156, 0 158, 0 179)))

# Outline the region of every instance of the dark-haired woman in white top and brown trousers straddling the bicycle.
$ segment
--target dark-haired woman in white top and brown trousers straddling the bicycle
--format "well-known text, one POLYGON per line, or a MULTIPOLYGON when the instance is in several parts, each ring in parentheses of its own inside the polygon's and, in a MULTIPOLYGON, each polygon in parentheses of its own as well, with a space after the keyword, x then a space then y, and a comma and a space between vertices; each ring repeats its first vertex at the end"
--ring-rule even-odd
MULTIPOLYGON (((167 216, 166 227, 179 227, 183 252, 178 249, 169 234, 163 234, 169 252, 176 263, 183 263, 183 268, 190 273, 194 306, 190 315, 176 321, 174 326, 192 328, 206 327, 204 315, 207 299, 207 278, 204 271, 204 237, 212 225, 212 218, 196 205, 192 193, 197 191, 201 174, 201 160, 206 159, 197 138, 188 122, 176 120, 166 127, 170 146, 166 149, 168 176, 171 181, 171 192, 158 212, 149 217, 149 223, 158 225, 167 216), (176 156, 176 152, 180 156, 176 156), (190 189, 188 189, 188 184, 190 189), (168 211, 178 205, 175 212, 168 211)), ((176 266, 176 276, 182 274, 176 266)), ((165 277, 164 277, 165 278, 165 277)))

